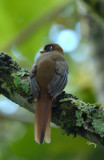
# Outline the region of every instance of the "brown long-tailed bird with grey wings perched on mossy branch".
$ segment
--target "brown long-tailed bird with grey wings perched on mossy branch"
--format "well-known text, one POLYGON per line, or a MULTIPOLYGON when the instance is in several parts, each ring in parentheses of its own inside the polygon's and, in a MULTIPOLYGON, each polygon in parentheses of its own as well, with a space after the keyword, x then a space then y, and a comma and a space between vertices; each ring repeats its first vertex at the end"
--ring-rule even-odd
POLYGON ((58 44, 47 44, 40 53, 30 71, 30 89, 36 101, 35 141, 43 144, 51 142, 52 102, 67 84, 68 63, 58 44))

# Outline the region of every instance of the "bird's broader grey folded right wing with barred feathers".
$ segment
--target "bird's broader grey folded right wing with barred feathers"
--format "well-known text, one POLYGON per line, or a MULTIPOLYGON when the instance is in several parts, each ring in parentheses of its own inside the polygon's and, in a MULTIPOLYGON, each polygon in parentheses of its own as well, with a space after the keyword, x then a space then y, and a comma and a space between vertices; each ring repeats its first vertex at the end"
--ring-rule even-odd
POLYGON ((54 77, 48 84, 48 90, 49 90, 48 92, 52 97, 59 95, 65 88, 68 81, 68 65, 64 67, 64 72, 63 72, 63 66, 62 70, 60 69, 61 65, 59 67, 58 66, 59 63, 58 65, 57 64, 55 65, 54 77))

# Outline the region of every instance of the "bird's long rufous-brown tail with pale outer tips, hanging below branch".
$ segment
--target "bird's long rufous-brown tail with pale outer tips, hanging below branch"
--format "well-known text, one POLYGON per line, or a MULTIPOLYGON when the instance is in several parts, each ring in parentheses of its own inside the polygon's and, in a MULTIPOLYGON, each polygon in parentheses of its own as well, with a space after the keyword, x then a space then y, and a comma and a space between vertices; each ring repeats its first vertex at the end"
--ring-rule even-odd
POLYGON ((51 121, 52 100, 49 98, 37 99, 35 112, 35 140, 39 144, 50 142, 50 121, 51 121))

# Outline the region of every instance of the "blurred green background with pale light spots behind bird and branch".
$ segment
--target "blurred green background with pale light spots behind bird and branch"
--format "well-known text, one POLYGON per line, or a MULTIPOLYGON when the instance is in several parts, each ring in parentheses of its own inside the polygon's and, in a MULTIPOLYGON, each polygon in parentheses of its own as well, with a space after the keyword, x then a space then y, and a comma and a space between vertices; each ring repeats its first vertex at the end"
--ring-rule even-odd
MULTIPOLYGON (((39 50, 58 43, 69 64, 65 91, 104 106, 104 1, 0 0, 0 51, 30 70, 39 50)), ((34 141, 34 114, 0 95, 0 160, 103 160, 104 149, 62 135, 34 141)))

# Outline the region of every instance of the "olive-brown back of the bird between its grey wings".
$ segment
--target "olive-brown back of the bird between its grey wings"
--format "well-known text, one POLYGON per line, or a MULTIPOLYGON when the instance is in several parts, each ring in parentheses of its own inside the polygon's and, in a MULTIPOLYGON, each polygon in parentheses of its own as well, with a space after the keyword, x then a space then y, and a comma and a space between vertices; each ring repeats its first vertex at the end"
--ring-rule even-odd
POLYGON ((48 91, 47 86, 52 80, 55 72, 54 65, 55 62, 51 59, 40 60, 37 65, 36 80, 38 82, 40 90, 42 90, 43 92, 48 91))

